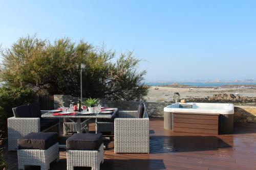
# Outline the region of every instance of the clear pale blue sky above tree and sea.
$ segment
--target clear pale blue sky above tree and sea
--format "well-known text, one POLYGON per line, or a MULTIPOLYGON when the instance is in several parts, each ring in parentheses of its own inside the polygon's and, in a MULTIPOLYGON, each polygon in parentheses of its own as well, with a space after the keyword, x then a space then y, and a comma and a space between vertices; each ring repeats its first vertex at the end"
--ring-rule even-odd
POLYGON ((70 37, 133 50, 146 81, 256 80, 256 1, 0 0, 0 16, 2 48, 70 37))

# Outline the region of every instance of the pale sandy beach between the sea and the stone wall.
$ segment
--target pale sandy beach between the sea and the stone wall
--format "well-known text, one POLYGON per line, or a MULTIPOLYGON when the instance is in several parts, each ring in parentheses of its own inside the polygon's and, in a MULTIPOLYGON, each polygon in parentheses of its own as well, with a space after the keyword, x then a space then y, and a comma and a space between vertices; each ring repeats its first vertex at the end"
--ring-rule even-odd
POLYGON ((180 93, 180 98, 205 98, 219 93, 239 93, 240 96, 256 97, 256 88, 234 88, 234 87, 222 87, 220 89, 195 87, 193 89, 179 88, 179 87, 159 87, 151 86, 146 96, 148 102, 162 102, 172 101, 175 92, 180 93))

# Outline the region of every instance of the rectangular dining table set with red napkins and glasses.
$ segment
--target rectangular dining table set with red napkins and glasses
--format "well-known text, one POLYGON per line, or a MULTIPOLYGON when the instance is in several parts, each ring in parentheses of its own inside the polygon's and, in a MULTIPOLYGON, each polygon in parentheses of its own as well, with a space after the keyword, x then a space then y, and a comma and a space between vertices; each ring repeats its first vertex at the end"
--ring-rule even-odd
MULTIPOLYGON (((91 118, 95 118, 95 122, 97 123, 97 118, 105 118, 105 119, 111 119, 113 116, 115 116, 115 114, 117 113, 118 109, 117 108, 111 108, 113 109, 113 113, 111 114, 106 114, 106 113, 92 113, 92 114, 84 114, 84 113, 88 113, 88 112, 77 112, 75 111, 74 115, 54 115, 54 113, 44 113, 41 115, 42 118, 63 118, 63 119, 69 119, 72 122, 76 122, 76 126, 77 126, 77 133, 81 133, 81 118, 85 119, 83 122, 86 122, 88 120, 90 120, 91 118)), ((61 112, 60 112, 61 113, 61 112)), ((97 128, 97 127, 96 127, 97 128)), ((97 129, 96 129, 96 133, 97 133, 97 129)))

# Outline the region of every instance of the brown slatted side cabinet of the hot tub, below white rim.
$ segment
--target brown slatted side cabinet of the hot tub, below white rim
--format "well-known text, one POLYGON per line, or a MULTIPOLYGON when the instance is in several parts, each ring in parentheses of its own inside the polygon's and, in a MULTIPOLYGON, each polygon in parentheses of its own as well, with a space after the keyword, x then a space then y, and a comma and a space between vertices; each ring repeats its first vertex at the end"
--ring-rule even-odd
POLYGON ((183 133, 230 134, 233 133, 233 114, 165 111, 164 129, 183 133))

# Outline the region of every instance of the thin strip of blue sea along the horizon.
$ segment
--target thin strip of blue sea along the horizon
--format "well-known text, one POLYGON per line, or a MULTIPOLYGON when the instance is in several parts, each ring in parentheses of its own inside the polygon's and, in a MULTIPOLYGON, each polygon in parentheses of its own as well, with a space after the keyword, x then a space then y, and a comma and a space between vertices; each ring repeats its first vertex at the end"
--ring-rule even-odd
POLYGON ((186 86, 198 86, 198 87, 220 87, 225 85, 256 85, 256 82, 145 82, 148 86, 163 86, 163 85, 171 85, 173 83, 178 83, 180 85, 186 86))

